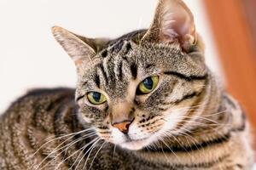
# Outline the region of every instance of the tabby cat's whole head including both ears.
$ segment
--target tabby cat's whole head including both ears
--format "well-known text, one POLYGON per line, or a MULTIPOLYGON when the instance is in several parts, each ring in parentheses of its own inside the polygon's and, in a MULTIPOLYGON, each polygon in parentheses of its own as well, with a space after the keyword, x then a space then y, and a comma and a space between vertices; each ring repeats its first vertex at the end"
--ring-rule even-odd
POLYGON ((139 150, 182 131, 207 86, 193 15, 180 0, 160 0, 148 30, 115 40, 53 27, 77 66, 79 120, 108 142, 139 150))

